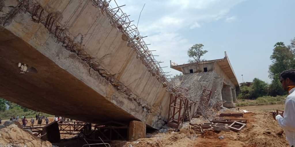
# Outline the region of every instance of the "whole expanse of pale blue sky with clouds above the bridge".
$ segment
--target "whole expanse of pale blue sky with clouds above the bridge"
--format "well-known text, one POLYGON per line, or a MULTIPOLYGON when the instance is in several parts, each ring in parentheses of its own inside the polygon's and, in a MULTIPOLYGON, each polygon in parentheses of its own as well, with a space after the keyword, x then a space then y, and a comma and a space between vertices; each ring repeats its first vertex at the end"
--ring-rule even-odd
MULTIPOLYGON (((207 60, 222 59, 227 51, 237 79, 242 82, 268 78, 273 45, 286 45, 295 37, 294 0, 117 0, 164 71, 170 60, 183 64, 193 44, 204 44, 207 60)), ((113 5, 111 3, 111 5, 113 5)))

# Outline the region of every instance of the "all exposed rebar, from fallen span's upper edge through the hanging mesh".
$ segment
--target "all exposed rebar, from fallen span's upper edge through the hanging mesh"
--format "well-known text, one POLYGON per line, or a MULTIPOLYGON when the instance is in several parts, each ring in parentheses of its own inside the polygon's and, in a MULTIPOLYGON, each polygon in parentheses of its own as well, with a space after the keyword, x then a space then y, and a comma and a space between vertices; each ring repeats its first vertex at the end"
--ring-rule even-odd
POLYGON ((96 8, 100 9, 103 15, 108 17, 111 25, 122 33, 122 39, 127 41, 127 46, 134 49, 137 53, 136 57, 142 61, 142 64, 146 66, 150 74, 155 76, 159 82, 162 82, 163 86, 170 93, 178 95, 183 100, 188 99, 190 102, 198 103, 198 105, 194 106, 199 106, 198 110, 204 116, 207 111, 214 107, 215 103, 217 103, 222 85, 220 85, 220 82, 217 84, 218 90, 216 90, 217 92, 214 91, 215 94, 211 99, 206 98, 208 91, 204 90, 211 90, 212 86, 216 84, 214 83, 214 79, 217 78, 216 71, 184 75, 168 80, 171 79, 170 75, 167 75, 167 72, 163 71, 160 66, 161 62, 155 60, 152 51, 148 49, 147 44, 143 40, 147 36, 140 35, 137 27, 131 24, 132 21, 128 18, 130 15, 122 11, 122 6, 119 6, 115 0, 91 1, 96 8), (203 103, 203 101, 206 103, 203 103))

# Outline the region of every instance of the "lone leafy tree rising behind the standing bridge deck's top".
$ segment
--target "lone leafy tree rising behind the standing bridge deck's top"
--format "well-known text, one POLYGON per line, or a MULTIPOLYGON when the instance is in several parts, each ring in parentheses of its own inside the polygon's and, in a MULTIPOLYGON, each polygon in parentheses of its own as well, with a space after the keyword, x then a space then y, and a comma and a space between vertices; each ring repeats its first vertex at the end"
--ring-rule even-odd
POLYGON ((207 50, 203 50, 203 46, 203 44, 195 44, 191 48, 189 48, 189 50, 187 51, 187 55, 194 58, 194 60, 189 60, 189 63, 206 61, 204 59, 201 59, 201 56, 208 52, 207 50))

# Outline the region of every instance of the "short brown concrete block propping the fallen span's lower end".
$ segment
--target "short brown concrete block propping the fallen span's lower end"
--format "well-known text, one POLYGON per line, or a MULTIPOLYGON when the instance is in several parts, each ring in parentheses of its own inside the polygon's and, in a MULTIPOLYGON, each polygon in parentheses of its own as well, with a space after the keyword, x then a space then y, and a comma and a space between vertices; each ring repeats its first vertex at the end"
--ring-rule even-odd
POLYGON ((146 124, 142 121, 130 121, 128 140, 135 141, 139 138, 146 138, 146 124))

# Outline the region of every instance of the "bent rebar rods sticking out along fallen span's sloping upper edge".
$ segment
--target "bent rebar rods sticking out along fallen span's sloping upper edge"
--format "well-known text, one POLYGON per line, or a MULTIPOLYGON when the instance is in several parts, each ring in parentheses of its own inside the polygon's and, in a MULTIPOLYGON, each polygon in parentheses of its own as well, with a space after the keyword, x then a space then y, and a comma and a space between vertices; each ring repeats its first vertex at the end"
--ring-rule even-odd
MULTIPOLYGON (((115 0, 102 1, 91 0, 93 5, 101 10, 101 13, 109 18, 112 26, 122 33, 122 39, 127 41, 127 46, 130 46, 137 53, 137 58, 141 59, 150 74, 155 76, 159 82, 163 83, 163 86, 167 88, 169 92, 173 88, 173 83, 168 82, 167 72, 164 72, 161 68, 160 61, 156 61, 152 51, 148 49, 147 44, 143 41, 146 36, 141 36, 137 27, 130 21, 126 13, 121 9, 122 6, 118 6, 115 0), (113 6, 111 6, 111 4, 113 6)), ((123 5, 124 6, 124 5, 123 5)))

